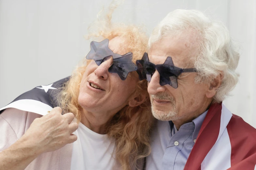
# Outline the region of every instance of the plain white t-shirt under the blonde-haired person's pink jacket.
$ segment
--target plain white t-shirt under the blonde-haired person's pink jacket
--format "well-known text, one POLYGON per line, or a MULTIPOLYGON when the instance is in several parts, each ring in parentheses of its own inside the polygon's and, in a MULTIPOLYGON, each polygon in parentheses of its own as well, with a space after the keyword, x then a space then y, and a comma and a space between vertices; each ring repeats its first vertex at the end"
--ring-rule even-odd
POLYGON ((71 170, 113 170, 121 169, 115 159, 115 140, 108 135, 93 132, 82 123, 73 133, 71 170))

